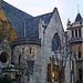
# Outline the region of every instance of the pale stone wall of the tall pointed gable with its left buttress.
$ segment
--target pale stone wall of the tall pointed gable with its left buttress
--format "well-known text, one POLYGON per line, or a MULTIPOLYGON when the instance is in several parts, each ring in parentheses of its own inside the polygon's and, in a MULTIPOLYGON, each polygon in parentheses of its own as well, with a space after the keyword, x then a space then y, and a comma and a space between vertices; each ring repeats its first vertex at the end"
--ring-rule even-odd
MULTIPOLYGON (((43 20, 41 22, 41 24, 44 24, 43 20)), ((58 10, 54 11, 54 13, 51 17, 51 20, 46 27, 46 29, 44 30, 44 27, 42 27, 40 24, 41 28, 41 83, 46 83, 46 72, 48 72, 48 63, 50 63, 50 56, 52 56, 52 54, 54 54, 52 52, 52 39, 54 37, 55 33, 59 34, 59 39, 60 39, 60 46, 63 45, 62 43, 64 42, 64 30, 58 13, 58 10)), ((45 24, 44 24, 45 25, 45 24)))

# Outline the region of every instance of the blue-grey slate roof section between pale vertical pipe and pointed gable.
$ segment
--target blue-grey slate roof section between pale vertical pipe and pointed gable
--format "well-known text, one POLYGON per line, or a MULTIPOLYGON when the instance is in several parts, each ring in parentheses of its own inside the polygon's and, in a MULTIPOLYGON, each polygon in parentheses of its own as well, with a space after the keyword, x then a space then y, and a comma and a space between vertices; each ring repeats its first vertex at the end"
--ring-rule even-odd
POLYGON ((44 20, 44 23, 49 23, 53 12, 27 19, 25 21, 25 35, 27 38, 39 39, 39 21, 44 20))

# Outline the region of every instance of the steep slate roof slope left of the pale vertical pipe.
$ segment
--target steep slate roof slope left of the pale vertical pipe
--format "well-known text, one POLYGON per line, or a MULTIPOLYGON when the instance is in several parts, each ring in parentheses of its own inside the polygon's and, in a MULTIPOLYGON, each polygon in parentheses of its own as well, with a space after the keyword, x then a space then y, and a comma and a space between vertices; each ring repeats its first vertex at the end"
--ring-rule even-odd
POLYGON ((12 7, 11 4, 4 1, 0 3, 0 7, 2 8, 10 23, 12 24, 18 38, 23 38, 24 35, 24 29, 23 29, 24 23, 23 22, 25 19, 29 19, 32 15, 12 7))

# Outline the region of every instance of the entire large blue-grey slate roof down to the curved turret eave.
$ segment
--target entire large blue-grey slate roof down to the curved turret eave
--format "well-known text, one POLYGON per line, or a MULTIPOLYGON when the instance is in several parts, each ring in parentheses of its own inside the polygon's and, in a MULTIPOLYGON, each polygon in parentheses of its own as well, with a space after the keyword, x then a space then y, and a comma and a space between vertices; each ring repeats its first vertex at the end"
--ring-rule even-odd
POLYGON ((18 40, 14 40, 13 43, 15 44, 22 44, 22 43, 35 43, 40 44, 41 41, 39 40, 39 21, 40 19, 44 20, 44 23, 50 22, 50 19, 53 14, 53 12, 45 13, 39 17, 32 17, 13 6, 7 3, 6 1, 2 1, 0 3, 0 7, 2 8, 6 17, 12 24, 17 35, 18 40), (25 38, 24 38, 24 22, 25 22, 25 38))

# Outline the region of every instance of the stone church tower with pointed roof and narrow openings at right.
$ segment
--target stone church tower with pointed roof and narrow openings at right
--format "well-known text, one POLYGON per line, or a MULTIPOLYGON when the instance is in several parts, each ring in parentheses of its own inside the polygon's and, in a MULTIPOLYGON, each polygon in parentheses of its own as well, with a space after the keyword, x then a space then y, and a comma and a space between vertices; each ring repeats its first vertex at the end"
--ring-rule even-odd
POLYGON ((73 58, 72 60, 72 81, 82 83, 83 82, 83 20, 80 13, 77 13, 75 20, 73 23, 71 23, 70 20, 68 20, 68 35, 69 41, 71 43, 71 48, 73 51, 73 58))

